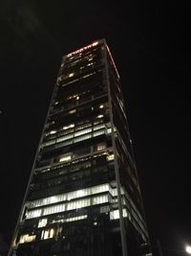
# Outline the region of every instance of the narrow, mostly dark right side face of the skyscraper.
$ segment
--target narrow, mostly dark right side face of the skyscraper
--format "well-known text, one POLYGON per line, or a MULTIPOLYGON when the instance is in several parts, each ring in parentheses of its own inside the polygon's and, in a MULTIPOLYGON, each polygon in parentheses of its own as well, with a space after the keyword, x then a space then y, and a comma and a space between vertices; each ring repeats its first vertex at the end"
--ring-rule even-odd
MULTIPOLYGON (((107 63, 111 93, 112 116, 115 128, 115 149, 117 151, 118 185, 122 197, 122 213, 128 253, 139 255, 142 244, 148 244, 148 232, 144 220, 142 200, 138 184, 138 173, 124 107, 117 68, 107 47, 107 63)), ((122 230, 122 229, 121 229, 122 230)))

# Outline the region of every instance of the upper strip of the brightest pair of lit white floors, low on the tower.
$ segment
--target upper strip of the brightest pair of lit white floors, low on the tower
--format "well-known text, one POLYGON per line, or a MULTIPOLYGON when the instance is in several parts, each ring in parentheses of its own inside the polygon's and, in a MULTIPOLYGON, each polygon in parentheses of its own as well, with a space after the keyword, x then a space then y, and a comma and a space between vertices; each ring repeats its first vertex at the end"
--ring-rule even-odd
POLYGON ((35 207, 41 207, 44 205, 53 204, 60 201, 69 201, 75 198, 88 197, 91 195, 96 195, 96 194, 104 193, 108 191, 111 193, 113 197, 117 196, 117 189, 116 188, 113 189, 108 183, 105 183, 105 184, 97 185, 94 187, 89 187, 89 188, 76 190, 76 191, 65 193, 65 194, 56 195, 49 198, 41 198, 41 199, 28 201, 26 203, 26 206, 28 209, 32 209, 35 207))

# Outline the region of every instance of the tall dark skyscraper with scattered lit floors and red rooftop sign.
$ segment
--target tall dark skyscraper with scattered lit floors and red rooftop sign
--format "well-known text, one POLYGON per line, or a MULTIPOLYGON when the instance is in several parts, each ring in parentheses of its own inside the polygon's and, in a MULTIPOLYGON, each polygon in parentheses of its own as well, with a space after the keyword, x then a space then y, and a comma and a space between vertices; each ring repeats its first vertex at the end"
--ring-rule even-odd
POLYGON ((9 255, 151 255, 147 244, 120 79, 101 39, 62 58, 9 255))

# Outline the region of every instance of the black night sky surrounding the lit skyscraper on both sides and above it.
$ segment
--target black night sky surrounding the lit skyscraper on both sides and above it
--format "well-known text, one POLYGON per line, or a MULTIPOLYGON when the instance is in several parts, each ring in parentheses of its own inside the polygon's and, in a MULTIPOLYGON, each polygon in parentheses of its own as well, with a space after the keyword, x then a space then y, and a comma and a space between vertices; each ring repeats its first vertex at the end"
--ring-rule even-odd
POLYGON ((1 1, 0 233, 8 244, 61 57, 103 37, 121 78, 151 239, 163 255, 184 255, 191 243, 189 9, 113 2, 1 1))

